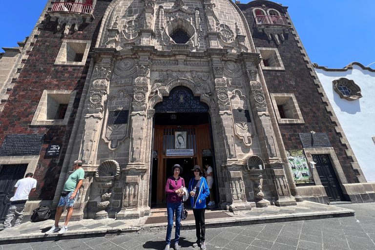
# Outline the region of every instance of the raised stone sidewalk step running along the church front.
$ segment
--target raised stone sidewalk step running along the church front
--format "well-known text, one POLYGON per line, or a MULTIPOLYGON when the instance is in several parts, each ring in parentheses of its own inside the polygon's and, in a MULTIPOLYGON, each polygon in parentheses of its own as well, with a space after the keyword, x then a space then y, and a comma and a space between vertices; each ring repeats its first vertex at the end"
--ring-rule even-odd
MULTIPOLYGON (((195 228, 192 210, 188 211, 187 220, 182 221, 181 229, 195 228)), ((242 226, 261 223, 286 222, 297 220, 311 220, 333 217, 353 216, 354 210, 336 206, 323 205, 313 202, 299 202, 297 206, 268 208, 252 208, 242 211, 206 211, 206 228, 220 228, 229 226, 242 226)), ((52 241, 59 239, 75 239, 87 237, 100 237, 106 235, 134 234, 143 232, 160 232, 167 228, 167 215, 165 211, 155 209, 147 217, 131 220, 93 220, 69 222, 68 231, 62 235, 44 232, 53 225, 53 219, 32 223, 25 222, 20 226, 0 231, 0 244, 52 241), (156 218, 156 219, 155 219, 156 218)), ((60 223, 62 227, 62 223, 60 223)))

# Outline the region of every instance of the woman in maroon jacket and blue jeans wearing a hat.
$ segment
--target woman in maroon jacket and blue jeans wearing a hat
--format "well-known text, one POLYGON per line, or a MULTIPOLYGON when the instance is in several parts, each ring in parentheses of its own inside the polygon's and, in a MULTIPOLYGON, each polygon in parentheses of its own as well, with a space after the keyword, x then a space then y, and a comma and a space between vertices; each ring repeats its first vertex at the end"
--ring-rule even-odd
POLYGON ((170 237, 172 235, 173 228, 173 215, 176 218, 176 231, 174 234, 174 250, 180 250, 178 241, 180 240, 180 222, 181 222, 181 210, 182 210, 182 196, 185 194, 183 187, 185 187, 184 178, 180 177, 184 169, 176 164, 172 167, 173 176, 167 179, 166 183, 166 194, 167 196, 167 236, 166 236, 166 248, 164 250, 169 250, 170 248, 170 237))

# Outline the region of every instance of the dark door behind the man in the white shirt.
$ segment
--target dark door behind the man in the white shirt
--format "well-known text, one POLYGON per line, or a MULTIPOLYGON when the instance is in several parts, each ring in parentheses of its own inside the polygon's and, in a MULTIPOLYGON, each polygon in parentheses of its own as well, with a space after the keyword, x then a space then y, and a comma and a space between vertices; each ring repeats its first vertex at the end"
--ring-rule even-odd
POLYGON ((0 223, 5 220, 9 199, 14 194, 14 185, 25 175, 27 164, 21 165, 2 165, 0 171, 0 223))

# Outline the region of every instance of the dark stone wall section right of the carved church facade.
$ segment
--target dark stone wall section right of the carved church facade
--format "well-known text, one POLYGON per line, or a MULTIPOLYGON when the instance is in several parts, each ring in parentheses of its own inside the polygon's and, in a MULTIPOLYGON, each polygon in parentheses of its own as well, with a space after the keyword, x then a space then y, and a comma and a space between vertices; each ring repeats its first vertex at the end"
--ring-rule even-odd
MULTIPOLYGON (((254 3, 253 3, 254 4, 254 3)), ((284 145, 286 149, 302 149, 302 143, 298 133, 325 132, 328 134, 331 145, 333 146, 337 158, 349 183, 358 183, 356 173, 351 167, 351 158, 346 156, 345 149, 340 143, 339 135, 334 130, 335 124, 330 120, 330 114, 326 111, 326 104, 321 100, 317 86, 310 75, 310 69, 307 62, 294 40, 290 29, 289 34, 284 34, 285 41, 280 41, 277 45, 273 40, 267 39, 266 34, 259 33, 255 27, 255 19, 252 13, 254 7, 261 7, 265 4, 266 8, 277 9, 282 15, 285 13, 277 4, 271 4, 268 1, 258 2, 257 6, 249 4, 239 4, 243 11, 251 30, 252 39, 255 47, 277 48, 284 63, 285 70, 264 70, 263 74, 270 93, 293 93, 301 110, 304 125, 279 125, 284 145)))

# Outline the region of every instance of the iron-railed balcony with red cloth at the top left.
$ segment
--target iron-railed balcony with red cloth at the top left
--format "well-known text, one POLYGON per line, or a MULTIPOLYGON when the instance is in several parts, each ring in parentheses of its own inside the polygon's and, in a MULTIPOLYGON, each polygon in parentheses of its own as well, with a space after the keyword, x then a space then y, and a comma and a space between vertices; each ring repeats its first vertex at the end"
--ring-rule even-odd
POLYGON ((92 7, 91 1, 89 4, 78 2, 54 2, 52 9, 48 11, 48 14, 54 17, 75 17, 79 15, 93 18, 93 12, 94 8, 92 7))

